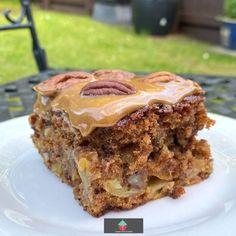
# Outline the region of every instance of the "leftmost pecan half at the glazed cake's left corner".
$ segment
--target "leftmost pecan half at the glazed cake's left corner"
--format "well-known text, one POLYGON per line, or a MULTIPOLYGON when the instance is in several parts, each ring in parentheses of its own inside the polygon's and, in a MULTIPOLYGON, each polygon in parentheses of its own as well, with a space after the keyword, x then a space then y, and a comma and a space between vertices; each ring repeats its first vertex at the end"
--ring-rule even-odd
POLYGON ((68 72, 65 74, 56 75, 46 81, 43 81, 42 83, 34 86, 33 89, 41 95, 53 96, 57 92, 69 88, 74 84, 89 81, 93 78, 93 75, 87 72, 68 72))

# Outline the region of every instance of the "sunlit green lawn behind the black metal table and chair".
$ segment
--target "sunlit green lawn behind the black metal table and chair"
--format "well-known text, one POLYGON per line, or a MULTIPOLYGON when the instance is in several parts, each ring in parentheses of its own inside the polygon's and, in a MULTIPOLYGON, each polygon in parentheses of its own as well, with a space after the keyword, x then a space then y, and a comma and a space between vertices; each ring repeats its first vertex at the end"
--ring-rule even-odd
MULTIPOLYGON (((1 0, 0 11, 9 6, 17 16, 17 2, 1 0)), ((109 26, 86 16, 33 8, 51 67, 236 75, 234 57, 209 52, 208 44, 184 36, 136 35, 130 28, 109 26)), ((0 32, 0 65, 0 83, 37 73, 27 30, 0 32)))

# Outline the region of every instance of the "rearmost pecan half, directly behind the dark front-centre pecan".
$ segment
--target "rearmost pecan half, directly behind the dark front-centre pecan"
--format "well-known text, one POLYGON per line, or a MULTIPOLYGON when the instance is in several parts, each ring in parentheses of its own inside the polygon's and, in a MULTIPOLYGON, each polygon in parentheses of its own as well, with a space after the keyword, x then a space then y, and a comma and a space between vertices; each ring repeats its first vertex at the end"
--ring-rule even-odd
POLYGON ((102 80, 102 79, 129 80, 135 77, 134 73, 122 70, 97 70, 93 72, 93 75, 96 77, 97 80, 102 80))

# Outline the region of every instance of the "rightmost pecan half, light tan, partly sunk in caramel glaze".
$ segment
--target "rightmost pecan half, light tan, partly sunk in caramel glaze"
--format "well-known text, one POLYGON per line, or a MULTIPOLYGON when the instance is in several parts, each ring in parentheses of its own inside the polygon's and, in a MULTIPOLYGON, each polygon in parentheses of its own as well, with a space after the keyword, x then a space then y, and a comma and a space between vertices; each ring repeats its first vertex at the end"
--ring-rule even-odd
POLYGON ((169 83, 171 81, 175 81, 175 82, 184 82, 185 80, 183 78, 181 78, 180 76, 177 76, 175 74, 172 74, 170 72, 166 72, 166 71, 160 71, 160 72, 156 72, 156 73, 152 73, 150 75, 147 75, 144 78, 144 82, 147 83, 169 83))

